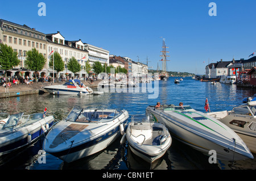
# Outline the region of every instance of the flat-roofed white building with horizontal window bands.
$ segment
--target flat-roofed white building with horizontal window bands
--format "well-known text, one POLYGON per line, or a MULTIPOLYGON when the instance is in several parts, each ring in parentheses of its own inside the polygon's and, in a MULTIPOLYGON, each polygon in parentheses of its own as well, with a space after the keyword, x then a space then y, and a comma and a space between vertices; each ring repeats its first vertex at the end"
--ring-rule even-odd
POLYGON ((94 62, 100 62, 105 66, 109 65, 109 51, 103 48, 96 47, 94 45, 90 45, 88 43, 84 43, 85 50, 88 51, 88 60, 91 65, 94 62))

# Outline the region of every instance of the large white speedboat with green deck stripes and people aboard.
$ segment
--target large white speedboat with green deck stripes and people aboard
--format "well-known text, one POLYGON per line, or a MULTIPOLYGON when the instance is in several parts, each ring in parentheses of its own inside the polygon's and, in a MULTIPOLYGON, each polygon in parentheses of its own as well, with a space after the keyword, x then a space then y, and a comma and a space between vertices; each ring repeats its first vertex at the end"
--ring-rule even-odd
POLYGON ((146 113, 166 125, 178 140, 205 155, 214 150, 216 159, 235 161, 253 158, 245 142, 228 126, 191 106, 148 106, 146 113))

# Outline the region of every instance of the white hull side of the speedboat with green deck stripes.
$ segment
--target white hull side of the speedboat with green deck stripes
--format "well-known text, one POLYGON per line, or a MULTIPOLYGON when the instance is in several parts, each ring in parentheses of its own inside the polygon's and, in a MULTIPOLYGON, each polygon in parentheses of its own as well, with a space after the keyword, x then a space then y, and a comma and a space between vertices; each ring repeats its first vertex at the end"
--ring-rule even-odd
MULTIPOLYGON (((217 159, 233 161, 253 158, 253 155, 251 155, 251 153, 246 152, 246 155, 244 155, 231 149, 234 143, 229 142, 228 144, 226 144, 225 140, 220 141, 212 136, 205 136, 204 134, 207 133, 201 133, 200 131, 196 131, 191 127, 187 127, 187 125, 185 125, 186 123, 181 123, 180 121, 177 121, 175 117, 165 116, 163 115, 163 113, 151 111, 148 108, 146 113, 151 113, 151 115, 153 115, 157 121, 159 121, 160 123, 164 123, 166 127, 170 130, 172 136, 174 136, 184 144, 187 144, 192 148, 201 151, 205 155, 210 156, 212 152, 209 151, 214 150, 216 151, 217 159)), ((228 127, 226 127, 226 129, 229 130, 228 127)), ((229 132, 233 131, 230 129, 229 132)), ((234 138, 236 139, 236 141, 243 143, 241 138, 238 137, 236 133, 234 133, 234 138)), ((246 147, 246 145, 243 143, 241 147, 246 147)), ((247 147, 245 149, 247 149, 247 147)), ((248 152, 250 151, 248 150, 248 152)))

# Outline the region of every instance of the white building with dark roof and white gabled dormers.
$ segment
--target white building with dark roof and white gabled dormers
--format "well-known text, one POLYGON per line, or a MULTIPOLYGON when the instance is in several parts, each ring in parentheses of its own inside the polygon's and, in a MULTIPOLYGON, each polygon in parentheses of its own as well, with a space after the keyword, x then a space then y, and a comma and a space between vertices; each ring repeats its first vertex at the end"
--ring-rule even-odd
MULTIPOLYGON (((68 74, 69 77, 85 77, 85 64, 89 59, 89 52, 85 49, 84 43, 81 39, 75 41, 65 40, 65 37, 61 35, 58 31, 57 33, 49 33, 46 35, 46 40, 48 42, 47 55, 49 55, 52 50, 58 52, 65 64, 65 70, 61 71, 59 75, 55 71, 54 77, 65 77, 64 74, 68 74), (75 57, 81 65, 81 71, 79 73, 73 74, 67 69, 67 63, 70 58, 75 57)), ((47 65, 49 64, 49 56, 47 56, 47 65)), ((48 68, 48 74, 53 77, 53 70, 48 68)))

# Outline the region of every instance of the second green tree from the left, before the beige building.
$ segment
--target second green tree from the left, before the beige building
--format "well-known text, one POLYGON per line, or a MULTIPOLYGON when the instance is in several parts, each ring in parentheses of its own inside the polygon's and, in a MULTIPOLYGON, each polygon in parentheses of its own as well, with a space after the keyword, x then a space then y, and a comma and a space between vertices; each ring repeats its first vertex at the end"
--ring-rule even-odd
POLYGON ((44 58, 43 54, 39 53, 38 50, 33 48, 27 52, 27 58, 24 63, 28 69, 35 71, 36 78, 36 73, 44 68, 44 65, 46 64, 46 58, 44 58))

